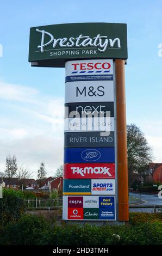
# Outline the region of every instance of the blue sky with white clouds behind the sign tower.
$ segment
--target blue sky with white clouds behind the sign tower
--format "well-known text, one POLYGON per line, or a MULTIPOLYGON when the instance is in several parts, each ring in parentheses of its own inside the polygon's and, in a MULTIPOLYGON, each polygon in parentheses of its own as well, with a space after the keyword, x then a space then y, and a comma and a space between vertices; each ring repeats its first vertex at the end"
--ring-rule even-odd
POLYGON ((29 28, 72 22, 127 23, 127 123, 141 127, 162 162, 161 9, 161 1, 1 1, 0 171, 8 154, 33 172, 45 161, 49 175, 63 162, 65 69, 30 66, 29 28))

